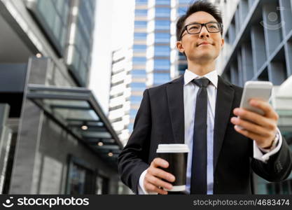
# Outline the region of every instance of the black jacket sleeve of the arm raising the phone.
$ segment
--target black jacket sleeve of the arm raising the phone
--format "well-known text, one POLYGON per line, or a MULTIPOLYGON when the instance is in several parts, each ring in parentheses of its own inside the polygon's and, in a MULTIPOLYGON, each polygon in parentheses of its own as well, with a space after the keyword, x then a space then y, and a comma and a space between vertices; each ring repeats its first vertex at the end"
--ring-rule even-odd
POLYGON ((292 153, 284 137, 280 150, 271 155, 267 163, 253 158, 251 167, 253 172, 267 181, 278 182, 286 179, 292 169, 292 153))

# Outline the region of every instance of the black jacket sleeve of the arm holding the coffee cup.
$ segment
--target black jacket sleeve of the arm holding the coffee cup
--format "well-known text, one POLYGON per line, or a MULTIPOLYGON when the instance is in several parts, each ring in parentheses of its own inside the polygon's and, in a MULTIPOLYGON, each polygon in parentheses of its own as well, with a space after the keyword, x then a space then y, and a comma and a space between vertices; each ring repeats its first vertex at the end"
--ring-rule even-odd
POLYGON ((126 186, 138 194, 139 177, 148 168, 148 153, 151 135, 151 106, 148 89, 134 120, 134 130, 127 145, 118 156, 118 171, 126 186))

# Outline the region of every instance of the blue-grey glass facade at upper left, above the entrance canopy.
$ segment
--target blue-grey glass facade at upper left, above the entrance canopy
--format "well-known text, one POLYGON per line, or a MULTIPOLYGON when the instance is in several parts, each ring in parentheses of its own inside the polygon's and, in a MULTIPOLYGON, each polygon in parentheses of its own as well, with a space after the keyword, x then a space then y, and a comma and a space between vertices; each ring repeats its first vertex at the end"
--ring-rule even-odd
POLYGON ((88 83, 96 0, 34 0, 27 3, 77 85, 88 83))

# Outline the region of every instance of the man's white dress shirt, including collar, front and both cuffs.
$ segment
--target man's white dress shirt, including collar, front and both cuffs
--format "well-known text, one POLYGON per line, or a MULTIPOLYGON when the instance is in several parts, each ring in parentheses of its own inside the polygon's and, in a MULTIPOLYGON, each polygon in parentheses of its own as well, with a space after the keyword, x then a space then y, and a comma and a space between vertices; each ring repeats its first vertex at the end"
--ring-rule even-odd
MULTIPOLYGON (((207 194, 213 194, 214 184, 214 167, 213 167, 213 141, 214 141, 214 118, 215 118, 215 105, 216 94, 218 85, 218 73, 216 70, 211 71, 204 76, 197 76, 197 74, 186 69, 184 73, 184 86, 183 86, 183 104, 184 104, 184 116, 185 116, 185 144, 188 144, 190 153, 188 153, 188 163, 186 172, 186 193, 190 193, 190 176, 192 167, 192 151, 193 151, 193 128, 195 120, 195 102, 197 97, 197 91, 200 87, 191 83, 193 79, 208 78, 211 83, 207 87, 208 93, 208 107, 207 107, 207 194)), ((253 158, 267 162, 270 155, 277 153, 281 147, 281 133, 278 129, 279 141, 275 148, 272 150, 264 150, 256 145, 256 141, 253 141, 253 158), (264 152, 264 153, 263 153, 264 152)), ((139 194, 157 194, 147 193, 144 189, 144 177, 147 169, 141 174, 139 178, 138 193, 139 194)))

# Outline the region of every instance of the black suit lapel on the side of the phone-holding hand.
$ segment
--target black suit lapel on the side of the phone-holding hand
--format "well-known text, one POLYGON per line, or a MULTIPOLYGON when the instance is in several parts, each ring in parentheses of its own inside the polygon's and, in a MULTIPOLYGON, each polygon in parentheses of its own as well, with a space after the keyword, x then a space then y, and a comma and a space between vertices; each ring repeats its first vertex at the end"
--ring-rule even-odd
POLYGON ((223 144, 224 134, 230 118, 234 89, 223 78, 218 76, 218 89, 214 119, 214 172, 223 144))

